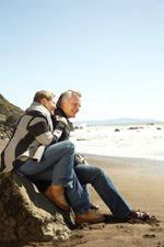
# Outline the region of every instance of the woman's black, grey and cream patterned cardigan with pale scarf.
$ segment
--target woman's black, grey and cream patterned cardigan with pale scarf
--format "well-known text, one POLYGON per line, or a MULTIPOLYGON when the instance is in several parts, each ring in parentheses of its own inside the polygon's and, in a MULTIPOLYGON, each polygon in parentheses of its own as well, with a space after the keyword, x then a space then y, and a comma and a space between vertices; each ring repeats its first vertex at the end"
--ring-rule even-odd
POLYGON ((1 154, 0 171, 9 172, 32 158, 39 162, 45 147, 58 142, 65 123, 58 121, 54 131, 50 112, 33 102, 19 120, 11 139, 1 154))

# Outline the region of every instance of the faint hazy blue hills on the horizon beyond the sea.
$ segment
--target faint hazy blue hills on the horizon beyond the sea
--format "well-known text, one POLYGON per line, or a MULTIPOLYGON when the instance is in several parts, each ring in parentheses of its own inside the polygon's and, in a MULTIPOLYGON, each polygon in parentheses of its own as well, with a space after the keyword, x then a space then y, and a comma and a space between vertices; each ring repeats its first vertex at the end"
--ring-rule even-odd
POLYGON ((159 122, 156 120, 151 119, 129 119, 129 117, 121 117, 121 119, 113 119, 113 120, 86 120, 86 121, 73 121, 73 125, 112 125, 112 124, 141 124, 141 123, 155 123, 159 122))

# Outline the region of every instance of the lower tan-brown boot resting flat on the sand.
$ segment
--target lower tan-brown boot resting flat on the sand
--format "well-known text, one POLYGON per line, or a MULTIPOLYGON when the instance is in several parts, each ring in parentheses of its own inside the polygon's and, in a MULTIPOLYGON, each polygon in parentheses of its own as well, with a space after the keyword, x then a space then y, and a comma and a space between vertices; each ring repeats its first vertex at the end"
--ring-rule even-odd
POLYGON ((80 225, 84 222, 86 222, 86 223, 101 223, 101 222, 104 222, 104 221, 105 221, 105 217, 102 214, 99 214, 95 211, 92 211, 92 210, 89 210, 85 213, 75 216, 75 223, 78 225, 80 225))

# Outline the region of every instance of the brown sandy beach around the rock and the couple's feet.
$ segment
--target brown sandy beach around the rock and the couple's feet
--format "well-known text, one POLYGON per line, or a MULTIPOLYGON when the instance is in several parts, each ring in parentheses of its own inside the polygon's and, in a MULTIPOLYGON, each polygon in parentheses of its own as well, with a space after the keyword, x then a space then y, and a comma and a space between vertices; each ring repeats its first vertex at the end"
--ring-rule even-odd
MULTIPOLYGON (((7 144, 0 141, 0 150, 7 144)), ((90 164, 98 165, 114 181, 120 194, 134 209, 149 212, 153 217, 142 222, 118 222, 109 218, 105 224, 84 224, 73 231, 67 243, 10 243, 0 246, 80 246, 80 247, 164 247, 164 166, 144 160, 115 157, 87 156, 90 164), (151 165, 152 164, 152 165, 151 165)), ((90 187, 91 198, 101 205, 101 212, 109 210, 90 187)))

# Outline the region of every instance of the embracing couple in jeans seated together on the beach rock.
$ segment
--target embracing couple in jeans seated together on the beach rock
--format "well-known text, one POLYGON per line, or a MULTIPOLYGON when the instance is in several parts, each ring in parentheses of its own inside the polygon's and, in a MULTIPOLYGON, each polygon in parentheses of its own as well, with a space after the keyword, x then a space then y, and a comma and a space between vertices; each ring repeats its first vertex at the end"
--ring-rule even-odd
POLYGON ((75 117, 80 106, 81 93, 73 90, 63 92, 57 104, 54 93, 36 92, 1 154, 1 171, 19 171, 31 180, 49 181, 45 195, 61 210, 69 211, 71 206, 77 224, 105 221, 103 214, 93 210, 98 206, 90 200, 87 183, 115 217, 149 218, 149 213, 129 206, 99 167, 74 154, 74 145, 69 141, 69 117, 75 117))

